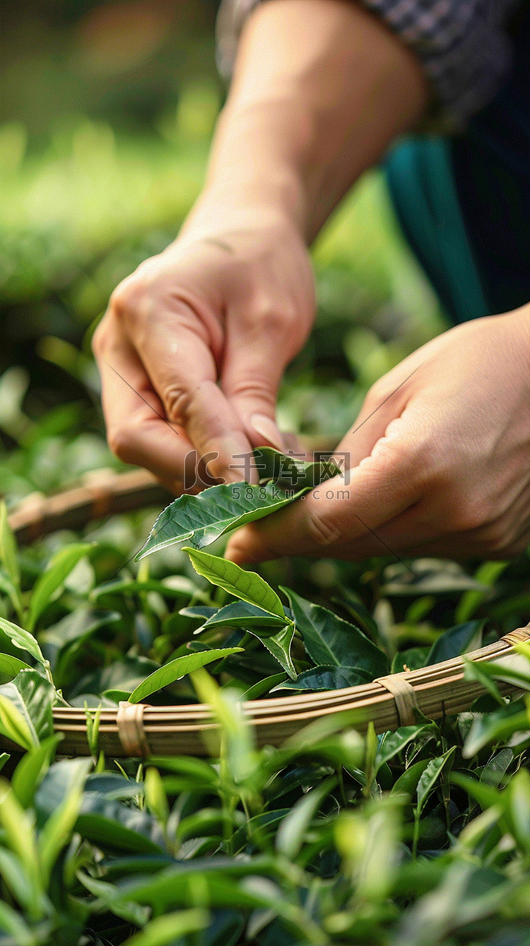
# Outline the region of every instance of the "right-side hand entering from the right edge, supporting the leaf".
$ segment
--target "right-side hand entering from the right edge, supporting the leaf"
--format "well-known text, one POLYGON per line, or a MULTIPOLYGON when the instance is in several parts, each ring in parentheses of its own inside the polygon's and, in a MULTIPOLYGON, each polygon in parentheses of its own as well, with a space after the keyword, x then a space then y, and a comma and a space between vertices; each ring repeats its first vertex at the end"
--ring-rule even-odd
POLYGON ((233 561, 507 558, 530 541, 530 306, 451 328, 374 385, 336 477, 231 539, 233 561))

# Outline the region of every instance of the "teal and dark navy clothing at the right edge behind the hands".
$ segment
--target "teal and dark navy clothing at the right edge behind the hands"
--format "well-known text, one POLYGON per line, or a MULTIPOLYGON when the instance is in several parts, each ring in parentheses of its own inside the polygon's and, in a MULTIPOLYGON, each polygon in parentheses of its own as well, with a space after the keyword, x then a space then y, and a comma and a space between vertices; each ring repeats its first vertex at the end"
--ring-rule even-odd
POLYGON ((456 323, 530 301, 530 14, 501 92, 453 138, 397 145, 386 174, 403 231, 456 323))

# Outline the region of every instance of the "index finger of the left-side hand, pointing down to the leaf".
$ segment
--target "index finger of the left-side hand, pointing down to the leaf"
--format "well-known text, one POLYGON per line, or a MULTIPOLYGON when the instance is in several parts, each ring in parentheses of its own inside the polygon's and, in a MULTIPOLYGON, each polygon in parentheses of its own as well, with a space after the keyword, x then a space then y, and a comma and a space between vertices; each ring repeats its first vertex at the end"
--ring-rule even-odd
POLYGON ((252 447, 235 408, 217 384, 217 364, 203 323, 185 303, 159 309, 156 319, 128 318, 126 331, 170 423, 186 429, 208 473, 242 479, 238 457, 252 447))

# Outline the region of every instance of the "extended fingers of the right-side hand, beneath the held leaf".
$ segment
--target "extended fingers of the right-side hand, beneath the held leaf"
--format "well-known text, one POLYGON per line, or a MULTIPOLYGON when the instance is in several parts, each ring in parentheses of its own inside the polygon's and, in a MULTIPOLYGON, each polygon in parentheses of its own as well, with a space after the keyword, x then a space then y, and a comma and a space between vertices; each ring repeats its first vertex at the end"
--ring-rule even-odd
POLYGON ((349 476, 328 480, 274 516, 245 526, 230 540, 227 556, 238 563, 280 555, 343 558, 361 539, 380 554, 381 527, 421 499, 422 439, 414 415, 394 419, 349 476))

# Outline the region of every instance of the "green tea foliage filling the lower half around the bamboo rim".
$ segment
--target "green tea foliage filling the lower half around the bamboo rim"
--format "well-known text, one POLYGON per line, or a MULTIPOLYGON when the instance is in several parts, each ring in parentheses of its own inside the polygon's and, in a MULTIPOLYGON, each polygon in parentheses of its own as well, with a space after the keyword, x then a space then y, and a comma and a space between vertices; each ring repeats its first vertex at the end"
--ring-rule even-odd
POLYGON ((374 560, 334 563, 332 582, 308 565, 266 581, 204 546, 264 514, 259 490, 274 511, 333 470, 299 465, 281 494, 277 455, 265 459, 250 499, 224 486, 176 499, 137 567, 134 517, 19 552, 0 513, 0 734, 24 753, 0 759, 0 943, 529 941, 530 696, 496 681, 529 692, 530 648, 511 669, 469 663, 486 695, 439 725, 362 737, 342 713, 258 748, 241 711, 241 697, 465 653, 494 638, 488 615, 513 629, 524 563, 470 575, 374 560), (221 739, 209 759, 106 760, 98 708, 122 699, 206 702, 221 739), (92 758, 62 757, 64 702, 86 707, 92 758))

